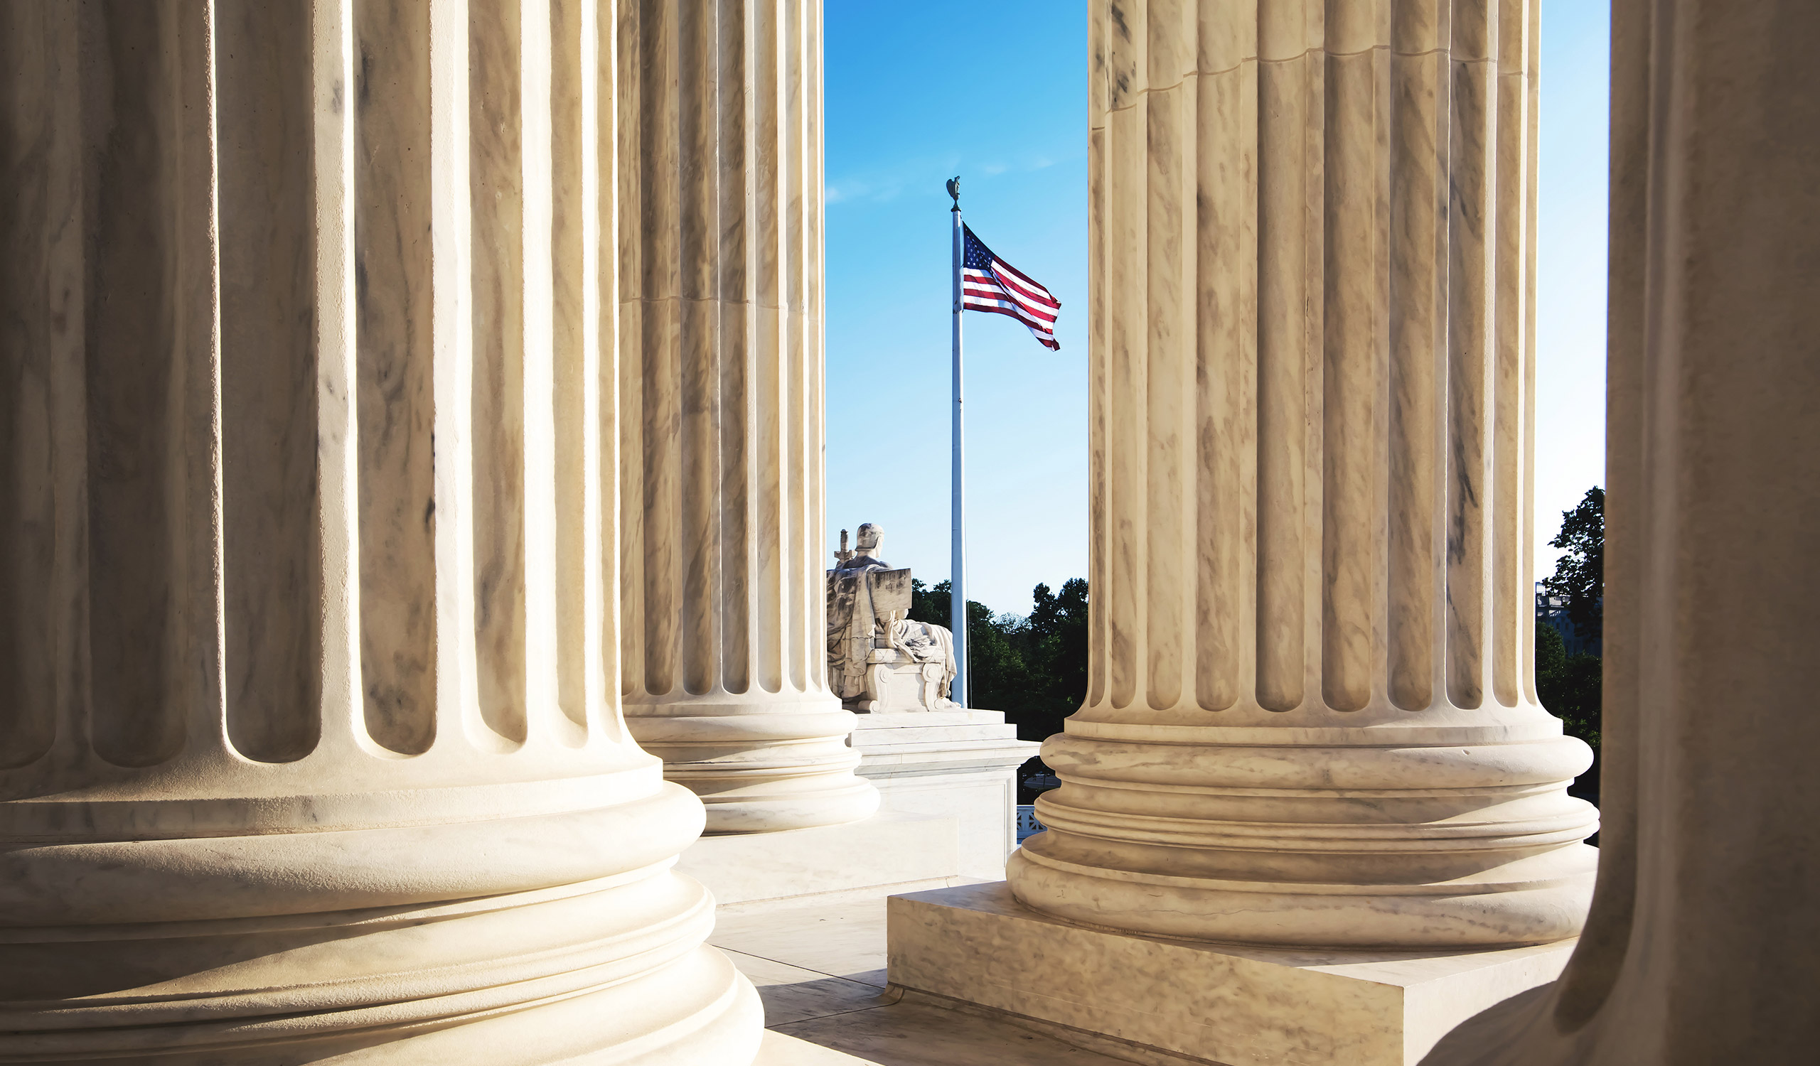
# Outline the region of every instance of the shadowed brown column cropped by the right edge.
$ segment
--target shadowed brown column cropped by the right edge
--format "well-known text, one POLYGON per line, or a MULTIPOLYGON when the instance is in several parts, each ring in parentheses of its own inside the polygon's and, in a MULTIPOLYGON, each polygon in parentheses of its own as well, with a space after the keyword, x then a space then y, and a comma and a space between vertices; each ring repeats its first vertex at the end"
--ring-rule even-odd
POLYGON ((1820 1042, 1820 7, 1616 0, 1598 891, 1431 1066, 1820 1042))

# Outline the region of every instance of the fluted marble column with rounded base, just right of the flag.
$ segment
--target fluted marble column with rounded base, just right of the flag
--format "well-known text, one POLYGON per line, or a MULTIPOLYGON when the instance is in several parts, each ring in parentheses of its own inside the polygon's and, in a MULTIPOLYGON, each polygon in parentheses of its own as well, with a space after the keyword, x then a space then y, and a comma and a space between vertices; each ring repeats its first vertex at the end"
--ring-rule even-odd
POLYGON ((1097 0, 1092 635, 1008 880, 1165 937, 1585 919, 1532 682, 1536 5, 1097 0))

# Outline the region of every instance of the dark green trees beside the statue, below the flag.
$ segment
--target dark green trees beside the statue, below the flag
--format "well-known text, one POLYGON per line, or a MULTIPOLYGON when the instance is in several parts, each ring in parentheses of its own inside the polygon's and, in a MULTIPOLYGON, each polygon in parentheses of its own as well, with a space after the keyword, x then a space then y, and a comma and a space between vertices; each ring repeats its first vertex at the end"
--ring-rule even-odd
MULTIPOLYGON (((910 582, 910 617, 948 624, 948 582, 910 582)), ((1070 578, 1059 593, 1036 586, 1028 615, 994 615, 966 602, 968 702, 1005 711, 1023 740, 1061 733, 1061 720, 1087 697, 1087 580, 1070 578)))

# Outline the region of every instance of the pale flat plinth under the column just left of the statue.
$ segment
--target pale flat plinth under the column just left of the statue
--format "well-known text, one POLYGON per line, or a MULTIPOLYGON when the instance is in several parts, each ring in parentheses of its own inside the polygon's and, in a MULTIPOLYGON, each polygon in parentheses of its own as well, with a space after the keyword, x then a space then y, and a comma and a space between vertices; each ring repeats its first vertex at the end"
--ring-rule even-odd
POLYGON ((868 891, 915 891, 959 879, 954 819, 879 811, 861 822, 703 837, 677 873, 708 886, 719 904, 868 891))

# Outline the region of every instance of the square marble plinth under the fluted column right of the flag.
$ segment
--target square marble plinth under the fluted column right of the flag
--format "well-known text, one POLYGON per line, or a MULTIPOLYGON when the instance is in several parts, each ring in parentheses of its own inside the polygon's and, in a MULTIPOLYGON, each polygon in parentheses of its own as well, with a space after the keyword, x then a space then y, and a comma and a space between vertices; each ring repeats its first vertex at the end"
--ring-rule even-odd
MULTIPOLYGON (((1076 926, 1005 882, 888 900, 888 975, 912 995, 1219 1066, 1414 1066, 1451 1028, 1554 981, 1576 940, 1492 951, 1241 948, 1076 926)), ((1092 1042, 1092 1041, 1088 1041, 1092 1042)))

